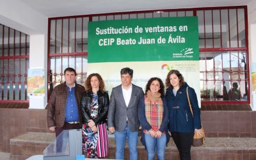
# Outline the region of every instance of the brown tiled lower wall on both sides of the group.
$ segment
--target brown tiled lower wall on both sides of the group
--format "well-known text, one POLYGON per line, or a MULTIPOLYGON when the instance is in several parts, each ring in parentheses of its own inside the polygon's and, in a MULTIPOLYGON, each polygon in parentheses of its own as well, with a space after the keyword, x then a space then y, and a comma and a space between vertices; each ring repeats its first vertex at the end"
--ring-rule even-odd
MULTIPOLYGON (((10 152, 10 138, 26 132, 49 132, 46 109, 0 108, 0 150, 10 152)), ((202 111, 207 137, 256 138, 256 111, 202 111)))

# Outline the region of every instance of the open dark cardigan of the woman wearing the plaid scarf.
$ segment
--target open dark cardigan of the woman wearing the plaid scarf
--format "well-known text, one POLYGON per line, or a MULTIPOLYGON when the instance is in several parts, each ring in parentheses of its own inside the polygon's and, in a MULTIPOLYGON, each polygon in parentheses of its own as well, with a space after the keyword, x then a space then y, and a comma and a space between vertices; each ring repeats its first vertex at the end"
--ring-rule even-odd
MULTIPOLYGON (((167 107, 167 102, 165 97, 161 97, 162 101, 163 101, 163 106, 164 106, 164 113, 163 113, 163 121, 162 124, 160 126, 159 131, 164 132, 165 131, 165 135, 166 135, 166 145, 168 144, 169 140, 170 140, 170 135, 168 133, 168 107, 167 107)), ((141 128, 141 143, 146 147, 146 143, 145 143, 145 133, 143 132, 144 129, 146 129, 147 131, 149 131, 152 127, 150 124, 148 124, 147 122, 147 118, 145 115, 145 98, 141 98, 140 102, 139 102, 139 113, 138 113, 138 117, 140 120, 140 124, 142 126, 141 128)))

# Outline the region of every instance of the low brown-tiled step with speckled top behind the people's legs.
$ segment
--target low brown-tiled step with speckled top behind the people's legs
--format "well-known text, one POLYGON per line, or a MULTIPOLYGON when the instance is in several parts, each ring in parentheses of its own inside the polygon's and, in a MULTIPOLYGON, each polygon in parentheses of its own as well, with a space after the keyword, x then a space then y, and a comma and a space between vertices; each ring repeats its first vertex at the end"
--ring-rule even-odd
MULTIPOLYGON (((55 138, 52 133, 28 132, 10 140, 10 150, 12 159, 24 159, 35 154, 42 154, 42 151, 55 138)), ((139 138, 140 139, 140 138, 139 138)), ((8 155, 7 155, 8 156, 8 155)), ((147 154, 143 145, 138 143, 139 160, 147 159, 147 154)), ((170 139, 165 151, 166 159, 179 159, 179 153, 173 140, 170 139)), ((1 160, 0 155, 0 160, 1 160)), ((256 158, 256 138, 205 138, 202 147, 191 148, 192 160, 255 160, 256 158)), ((109 138, 108 159, 115 158, 115 139, 109 138)), ((129 159, 128 148, 125 147, 125 159, 129 159)), ((4 159, 5 160, 5 159, 4 159)))

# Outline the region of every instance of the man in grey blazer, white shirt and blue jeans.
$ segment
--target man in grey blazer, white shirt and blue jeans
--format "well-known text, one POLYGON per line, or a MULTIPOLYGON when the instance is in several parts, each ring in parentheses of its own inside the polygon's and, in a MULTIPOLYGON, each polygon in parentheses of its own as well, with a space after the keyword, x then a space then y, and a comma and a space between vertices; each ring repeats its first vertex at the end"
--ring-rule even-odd
POLYGON ((122 68, 122 84, 112 89, 109 110, 108 129, 115 133, 116 159, 124 159, 126 139, 130 151, 130 159, 138 159, 137 144, 138 130, 138 102, 143 97, 143 90, 132 81, 133 70, 122 68))

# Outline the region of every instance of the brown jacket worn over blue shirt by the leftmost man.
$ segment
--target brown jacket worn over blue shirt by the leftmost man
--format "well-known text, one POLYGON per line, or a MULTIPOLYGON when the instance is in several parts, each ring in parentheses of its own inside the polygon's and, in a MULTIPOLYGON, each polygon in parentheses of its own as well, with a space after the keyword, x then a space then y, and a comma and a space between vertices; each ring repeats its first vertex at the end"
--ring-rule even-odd
MULTIPOLYGON (((81 113, 81 96, 84 92, 84 87, 80 84, 75 86, 75 97, 77 103, 77 110, 79 113, 79 124, 82 126, 82 113, 81 113)), ((47 124, 48 127, 63 127, 65 123, 66 101, 68 95, 68 88, 66 83, 59 84, 54 87, 49 103, 47 104, 47 124)))

